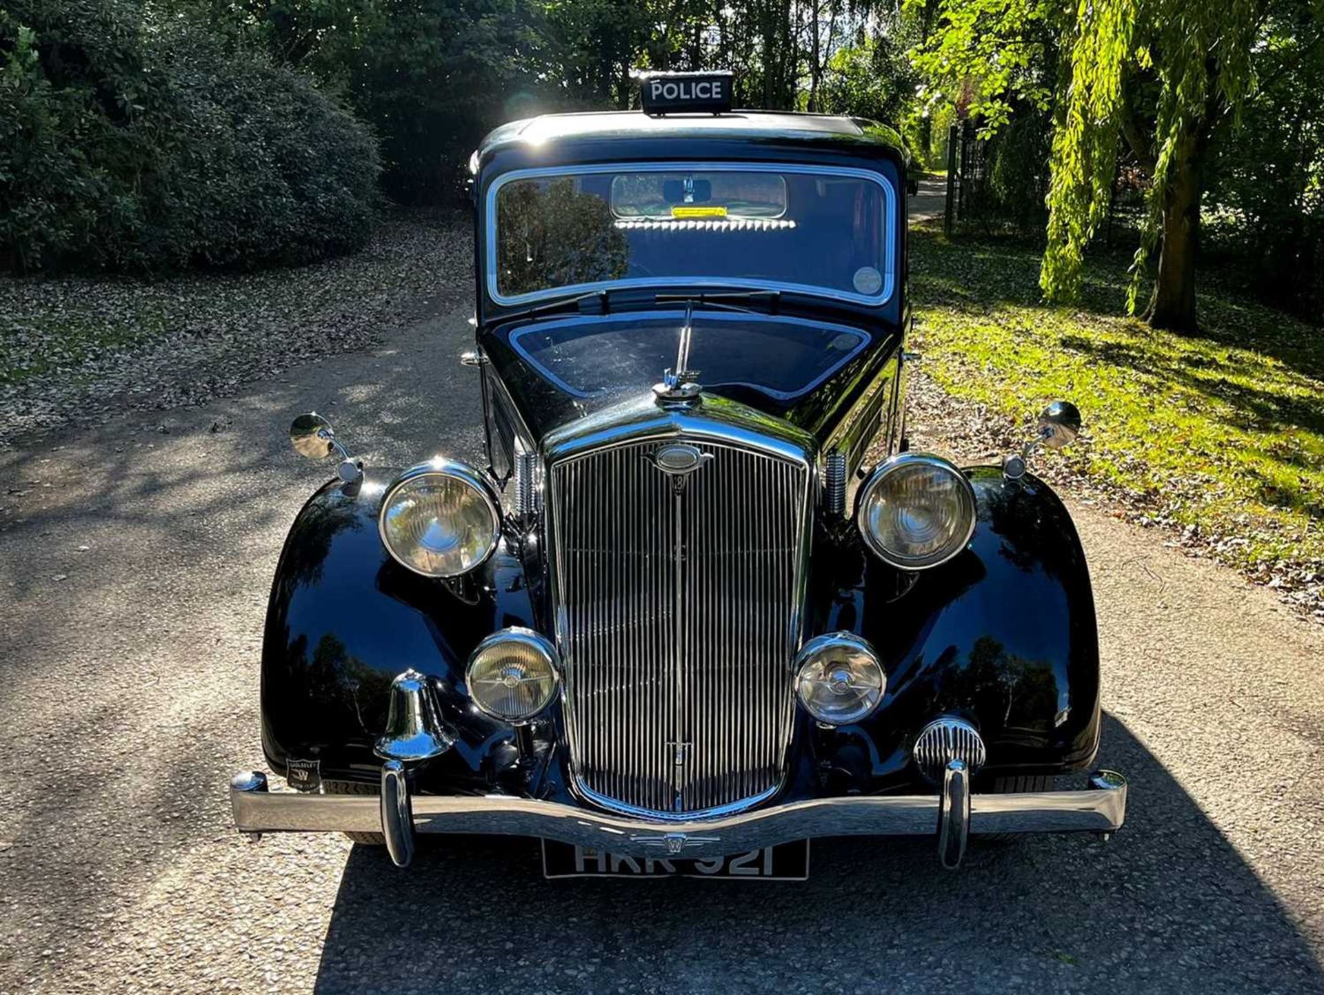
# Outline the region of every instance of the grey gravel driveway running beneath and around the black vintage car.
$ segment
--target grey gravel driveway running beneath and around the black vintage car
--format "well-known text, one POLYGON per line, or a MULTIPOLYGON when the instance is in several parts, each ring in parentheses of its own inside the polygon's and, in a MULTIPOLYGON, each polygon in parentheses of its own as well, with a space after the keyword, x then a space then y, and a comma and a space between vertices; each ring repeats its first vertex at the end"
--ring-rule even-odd
POLYGON ((927 842, 821 842, 805 884, 629 884, 545 883, 530 842, 401 872, 230 832, 267 585, 324 474, 283 427, 475 454, 466 316, 0 454, 0 992, 1324 992, 1324 630, 1092 507, 1100 759, 1132 783, 1108 844, 944 873, 927 842))

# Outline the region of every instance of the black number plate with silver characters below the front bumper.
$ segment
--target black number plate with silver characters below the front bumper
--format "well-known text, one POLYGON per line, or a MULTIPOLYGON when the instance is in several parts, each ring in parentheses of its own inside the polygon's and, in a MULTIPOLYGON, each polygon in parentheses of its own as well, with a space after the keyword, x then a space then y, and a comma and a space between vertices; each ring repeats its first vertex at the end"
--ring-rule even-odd
POLYGON ((592 847, 543 840, 547 877, 731 877, 736 880, 804 881, 809 877, 809 840, 730 853, 723 857, 677 857, 658 853, 628 857, 592 847))

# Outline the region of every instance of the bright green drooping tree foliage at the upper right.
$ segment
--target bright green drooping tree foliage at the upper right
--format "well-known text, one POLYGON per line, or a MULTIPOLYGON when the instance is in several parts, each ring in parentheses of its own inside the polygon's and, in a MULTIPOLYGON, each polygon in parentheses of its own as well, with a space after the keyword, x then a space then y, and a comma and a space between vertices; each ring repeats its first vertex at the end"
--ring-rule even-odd
POLYGON ((1151 324, 1196 328, 1210 220, 1213 247, 1264 299, 1324 316, 1321 0, 907 0, 907 11, 932 24, 915 52, 920 105, 952 107, 988 139, 972 213, 984 230, 1046 233, 1046 296, 1072 299, 1091 239, 1104 229, 1111 243, 1135 196, 1145 206, 1123 236, 1139 245, 1129 307, 1141 310, 1153 275, 1151 324))

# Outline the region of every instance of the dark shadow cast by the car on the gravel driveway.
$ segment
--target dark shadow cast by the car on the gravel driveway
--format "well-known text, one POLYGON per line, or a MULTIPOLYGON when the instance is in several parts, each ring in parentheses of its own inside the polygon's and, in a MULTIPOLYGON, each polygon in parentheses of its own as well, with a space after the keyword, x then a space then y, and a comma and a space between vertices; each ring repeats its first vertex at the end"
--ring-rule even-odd
POLYGON ((465 838, 408 871, 355 847, 318 992, 1324 991, 1288 913, 1168 771, 1106 717, 1127 827, 976 844, 813 844, 810 880, 542 877, 531 840, 465 838))

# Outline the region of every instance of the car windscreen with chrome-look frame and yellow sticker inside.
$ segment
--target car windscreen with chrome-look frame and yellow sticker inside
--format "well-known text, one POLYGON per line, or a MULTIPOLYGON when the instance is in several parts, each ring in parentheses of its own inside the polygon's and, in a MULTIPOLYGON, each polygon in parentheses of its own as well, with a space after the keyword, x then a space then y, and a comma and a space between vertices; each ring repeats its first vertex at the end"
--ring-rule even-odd
POLYGON ((882 303, 894 208, 849 169, 645 168, 511 173, 491 195, 499 303, 612 286, 740 286, 882 303))

